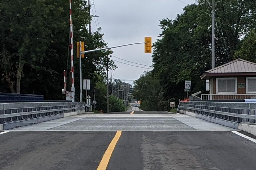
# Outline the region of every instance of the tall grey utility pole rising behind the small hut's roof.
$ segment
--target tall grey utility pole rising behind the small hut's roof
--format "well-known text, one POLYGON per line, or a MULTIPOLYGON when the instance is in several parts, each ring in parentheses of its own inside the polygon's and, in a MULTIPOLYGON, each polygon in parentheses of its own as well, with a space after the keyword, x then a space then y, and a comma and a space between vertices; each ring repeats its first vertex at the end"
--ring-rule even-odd
POLYGON ((212 11, 211 11, 211 69, 215 68, 215 1, 212 0, 212 11))

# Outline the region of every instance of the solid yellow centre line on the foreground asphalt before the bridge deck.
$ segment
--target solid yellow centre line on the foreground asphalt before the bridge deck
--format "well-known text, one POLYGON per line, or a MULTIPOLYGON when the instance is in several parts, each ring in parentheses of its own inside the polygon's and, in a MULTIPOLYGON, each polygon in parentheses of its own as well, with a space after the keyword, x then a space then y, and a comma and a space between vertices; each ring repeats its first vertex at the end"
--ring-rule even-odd
POLYGON ((107 148, 105 154, 103 155, 97 170, 106 170, 107 165, 109 164, 109 159, 112 155, 112 152, 114 151, 115 145, 117 144, 117 141, 120 138, 121 134, 122 134, 122 131, 118 130, 114 138, 110 142, 109 147, 107 148))

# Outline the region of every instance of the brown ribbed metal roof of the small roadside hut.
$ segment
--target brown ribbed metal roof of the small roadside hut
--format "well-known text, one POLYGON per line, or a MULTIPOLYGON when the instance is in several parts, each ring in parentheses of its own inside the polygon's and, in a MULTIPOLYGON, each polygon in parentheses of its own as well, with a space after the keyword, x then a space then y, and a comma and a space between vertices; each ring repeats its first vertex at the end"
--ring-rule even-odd
POLYGON ((201 79, 206 79, 211 76, 219 75, 254 75, 256 74, 256 63, 249 62, 243 59, 236 59, 221 66, 215 67, 214 69, 207 70, 201 79))

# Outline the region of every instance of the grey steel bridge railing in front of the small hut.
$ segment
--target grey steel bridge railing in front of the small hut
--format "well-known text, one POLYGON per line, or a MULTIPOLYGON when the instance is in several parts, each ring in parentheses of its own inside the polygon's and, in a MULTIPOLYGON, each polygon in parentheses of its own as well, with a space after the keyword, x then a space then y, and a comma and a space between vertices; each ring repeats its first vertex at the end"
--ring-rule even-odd
POLYGON ((256 123, 256 103, 208 101, 180 102, 179 110, 237 123, 256 123))

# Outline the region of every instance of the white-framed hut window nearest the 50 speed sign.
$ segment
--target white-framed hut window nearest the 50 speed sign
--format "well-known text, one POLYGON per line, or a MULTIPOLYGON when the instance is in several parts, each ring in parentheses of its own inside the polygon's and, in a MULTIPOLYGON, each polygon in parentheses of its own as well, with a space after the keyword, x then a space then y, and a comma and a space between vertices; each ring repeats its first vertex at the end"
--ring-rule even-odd
POLYGON ((237 94, 237 78, 216 78, 217 94, 237 94))

